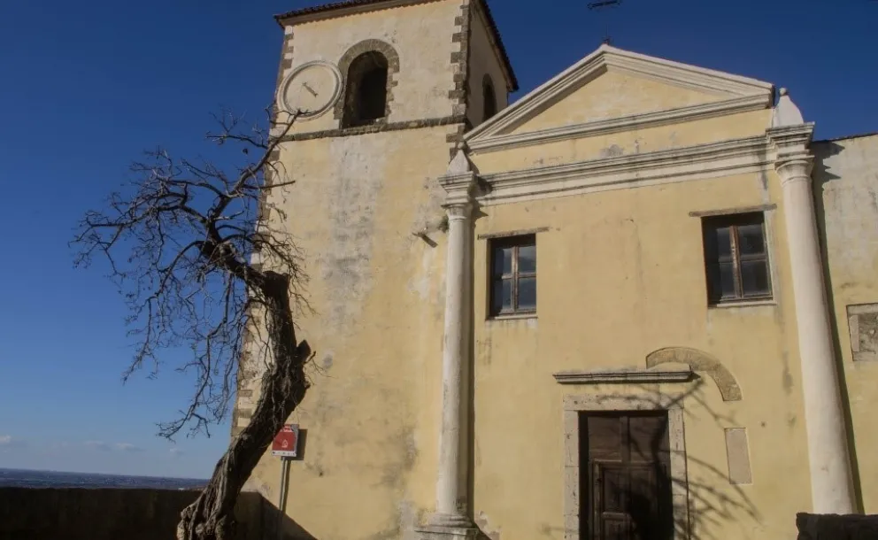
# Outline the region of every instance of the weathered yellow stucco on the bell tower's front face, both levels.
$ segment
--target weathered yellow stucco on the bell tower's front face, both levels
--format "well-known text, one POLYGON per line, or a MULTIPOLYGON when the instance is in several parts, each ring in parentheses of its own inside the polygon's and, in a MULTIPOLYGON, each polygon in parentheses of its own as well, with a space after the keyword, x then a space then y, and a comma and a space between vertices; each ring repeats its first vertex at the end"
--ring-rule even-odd
MULTIPOLYGON (((312 389, 290 419, 307 436, 283 510, 321 540, 409 538, 433 510, 444 265, 435 179, 462 132, 446 121, 458 103, 461 5, 427 2, 286 30, 292 69, 339 63, 364 42, 392 47, 399 64, 387 126, 283 143, 279 160, 296 184, 267 201, 269 222, 289 228, 302 250, 313 311, 297 320, 317 353, 312 389)), ((326 114, 296 132, 338 127, 326 114)), ((251 396, 239 397, 239 411, 258 397, 258 377, 242 388, 251 396)), ((240 428, 247 419, 238 416, 240 428)), ((250 486, 277 504, 280 473, 266 453, 250 486)))

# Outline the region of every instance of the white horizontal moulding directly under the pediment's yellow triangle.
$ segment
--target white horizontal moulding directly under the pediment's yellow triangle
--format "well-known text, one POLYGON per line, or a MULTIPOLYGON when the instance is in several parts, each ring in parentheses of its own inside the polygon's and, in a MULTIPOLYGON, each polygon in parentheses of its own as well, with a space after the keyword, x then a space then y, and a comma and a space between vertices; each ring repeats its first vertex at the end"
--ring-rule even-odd
POLYGON ((765 108, 766 96, 734 97, 715 103, 632 114, 605 120, 594 120, 569 126, 540 129, 528 133, 487 136, 467 142, 467 148, 474 153, 509 150, 533 144, 555 143, 586 136, 618 133, 620 131, 635 131, 646 127, 704 120, 739 112, 759 111, 765 108))

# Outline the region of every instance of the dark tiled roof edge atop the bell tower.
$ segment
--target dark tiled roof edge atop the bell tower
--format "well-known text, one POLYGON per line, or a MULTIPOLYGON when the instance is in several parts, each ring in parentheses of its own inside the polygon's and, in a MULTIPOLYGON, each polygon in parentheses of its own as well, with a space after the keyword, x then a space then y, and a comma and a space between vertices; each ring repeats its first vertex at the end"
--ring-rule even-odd
MULTIPOLYGON (((291 12, 279 13, 274 15, 274 20, 281 27, 287 27, 291 24, 302 24, 313 22, 316 20, 335 19, 355 15, 358 13, 375 12, 395 7, 403 7, 413 4, 427 4, 427 2, 438 2, 439 0, 344 0, 343 2, 334 2, 331 4, 316 5, 313 7, 301 8, 291 12)), ((512 62, 506 52, 500 31, 497 28, 497 21, 491 14, 487 0, 473 0, 479 4, 481 12, 484 13, 485 19, 488 21, 491 37, 497 46, 497 52, 503 64, 504 71, 509 79, 509 91, 515 92, 519 89, 519 81, 512 69, 512 62)))

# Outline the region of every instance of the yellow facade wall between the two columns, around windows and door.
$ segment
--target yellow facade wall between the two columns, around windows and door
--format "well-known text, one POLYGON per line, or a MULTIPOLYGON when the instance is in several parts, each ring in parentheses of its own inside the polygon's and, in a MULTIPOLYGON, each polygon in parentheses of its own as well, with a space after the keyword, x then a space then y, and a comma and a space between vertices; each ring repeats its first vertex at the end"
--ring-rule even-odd
POLYGON ((708 308, 700 220, 689 216, 775 202, 767 227, 782 246, 776 184, 746 174, 482 209, 480 235, 550 228, 536 241, 538 319, 487 319, 489 243, 476 243, 474 507, 486 527, 563 537, 562 399, 600 389, 562 387, 553 373, 643 368, 651 351, 683 346, 720 359, 743 391, 723 402, 705 378, 684 402, 697 537, 795 534, 811 498, 786 252, 771 248, 775 305, 708 308), (728 482, 725 428, 747 429, 752 485, 728 482))

